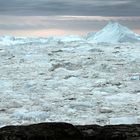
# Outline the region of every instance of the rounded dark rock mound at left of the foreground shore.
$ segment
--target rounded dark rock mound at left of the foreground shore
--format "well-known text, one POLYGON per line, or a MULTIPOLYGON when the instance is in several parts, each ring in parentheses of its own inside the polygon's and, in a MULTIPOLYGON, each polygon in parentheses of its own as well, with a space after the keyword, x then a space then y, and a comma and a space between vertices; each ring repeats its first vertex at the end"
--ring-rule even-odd
POLYGON ((6 126, 0 140, 81 140, 81 132, 67 123, 40 123, 29 126, 6 126))

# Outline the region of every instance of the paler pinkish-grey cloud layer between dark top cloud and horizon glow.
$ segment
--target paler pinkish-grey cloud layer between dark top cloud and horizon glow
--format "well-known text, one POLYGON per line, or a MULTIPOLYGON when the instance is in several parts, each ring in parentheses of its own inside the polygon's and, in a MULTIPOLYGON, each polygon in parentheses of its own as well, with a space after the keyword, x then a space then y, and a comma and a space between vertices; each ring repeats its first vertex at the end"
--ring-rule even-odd
MULTIPOLYGON (((74 19, 65 19, 61 20, 59 17, 47 18, 47 17, 27 17, 27 18, 18 18, 18 17, 10 17, 4 19, 0 17, 2 21, 0 21, 0 30, 40 30, 40 29, 61 29, 61 30, 75 30, 75 31, 97 31, 100 30, 109 19, 92 19, 92 20, 74 20, 74 19), (10 23, 11 22, 11 23, 10 23), (10 23, 10 24, 9 24, 10 23)), ((120 22, 124 24, 124 26, 128 26, 131 29, 140 29, 140 18, 112 18, 112 20, 120 22)))

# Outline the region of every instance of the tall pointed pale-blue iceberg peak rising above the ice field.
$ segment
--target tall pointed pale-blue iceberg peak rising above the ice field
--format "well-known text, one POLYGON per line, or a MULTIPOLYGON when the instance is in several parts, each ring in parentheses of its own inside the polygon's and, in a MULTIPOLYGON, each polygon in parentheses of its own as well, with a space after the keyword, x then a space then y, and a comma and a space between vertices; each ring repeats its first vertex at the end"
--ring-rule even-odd
POLYGON ((118 22, 110 21, 102 30, 88 40, 93 42, 124 43, 140 41, 138 35, 118 22))

